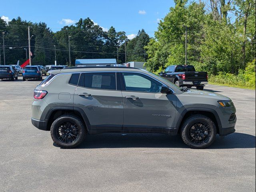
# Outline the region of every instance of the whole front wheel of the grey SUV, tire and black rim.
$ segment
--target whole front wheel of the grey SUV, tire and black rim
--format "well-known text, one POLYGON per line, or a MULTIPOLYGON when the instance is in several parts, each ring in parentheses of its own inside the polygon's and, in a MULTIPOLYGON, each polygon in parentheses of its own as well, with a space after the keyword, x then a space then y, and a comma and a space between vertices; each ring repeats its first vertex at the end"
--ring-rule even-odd
POLYGON ((183 142, 190 148, 203 149, 214 142, 216 126, 207 116, 192 115, 182 124, 180 134, 183 142), (205 126, 198 126, 200 124, 205 126))

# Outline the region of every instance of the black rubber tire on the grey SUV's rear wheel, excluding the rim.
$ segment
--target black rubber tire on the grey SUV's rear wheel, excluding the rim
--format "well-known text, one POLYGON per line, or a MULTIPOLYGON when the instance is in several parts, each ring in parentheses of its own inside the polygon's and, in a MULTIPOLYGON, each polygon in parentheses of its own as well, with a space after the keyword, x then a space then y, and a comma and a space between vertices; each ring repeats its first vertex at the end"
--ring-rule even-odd
POLYGON ((78 144, 80 144, 80 142, 82 142, 81 140, 84 140, 84 135, 86 132, 84 124, 82 124, 81 121, 79 121, 78 119, 70 117, 70 116, 62 116, 60 118, 57 118, 52 123, 50 131, 51 131, 52 139, 54 140, 54 142, 63 148, 72 148, 72 147, 75 147, 78 144), (78 139, 71 144, 65 144, 65 143, 60 142, 60 140, 58 140, 58 137, 56 135, 56 129, 58 129, 58 126, 65 121, 74 122, 78 126, 79 131, 80 131, 78 139))

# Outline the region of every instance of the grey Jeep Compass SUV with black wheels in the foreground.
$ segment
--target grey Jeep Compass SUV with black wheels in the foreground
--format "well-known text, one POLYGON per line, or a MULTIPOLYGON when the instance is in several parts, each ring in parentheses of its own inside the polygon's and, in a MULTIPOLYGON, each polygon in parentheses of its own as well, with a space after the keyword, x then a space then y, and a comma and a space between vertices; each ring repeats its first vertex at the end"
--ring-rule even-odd
POLYGON ((235 132, 230 98, 179 88, 146 70, 73 67, 49 73, 34 90, 32 124, 50 130, 63 148, 106 132, 181 134, 191 148, 205 148, 216 134, 235 132))

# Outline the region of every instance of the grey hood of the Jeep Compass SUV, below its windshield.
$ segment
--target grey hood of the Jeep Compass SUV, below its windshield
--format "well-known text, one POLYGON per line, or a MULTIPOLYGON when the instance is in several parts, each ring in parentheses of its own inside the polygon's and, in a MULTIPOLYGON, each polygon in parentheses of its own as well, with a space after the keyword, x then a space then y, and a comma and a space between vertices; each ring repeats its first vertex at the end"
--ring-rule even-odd
POLYGON ((184 92, 188 95, 191 95, 191 96, 198 96, 198 97, 208 97, 208 98, 213 98, 213 99, 216 99, 216 100, 224 100, 224 101, 231 101, 230 98, 224 96, 224 95, 221 95, 221 94, 217 94, 217 93, 213 93, 213 92, 209 92, 209 91, 200 91, 200 90, 189 90, 187 92, 184 92))

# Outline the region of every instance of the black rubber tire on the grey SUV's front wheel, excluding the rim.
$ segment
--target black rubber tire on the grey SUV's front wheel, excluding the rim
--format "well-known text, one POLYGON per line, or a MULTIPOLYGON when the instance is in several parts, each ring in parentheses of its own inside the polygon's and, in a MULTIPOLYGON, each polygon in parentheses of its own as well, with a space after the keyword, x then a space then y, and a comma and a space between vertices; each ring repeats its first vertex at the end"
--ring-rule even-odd
POLYGON ((184 129, 183 129, 183 135, 184 135, 184 139, 186 140, 186 142, 188 143, 189 146, 192 146, 193 148, 206 148, 207 146, 211 145, 212 142, 214 142, 215 138, 216 138, 216 126, 215 124, 208 118, 204 118, 204 117, 196 117, 196 118, 191 118, 185 125, 184 129), (193 126, 194 123, 196 122, 204 122, 206 124, 208 124, 212 130, 212 134, 211 137, 209 139, 209 141, 207 143, 204 144, 194 144, 193 142, 190 141, 189 137, 188 137, 188 131, 189 129, 193 126))

